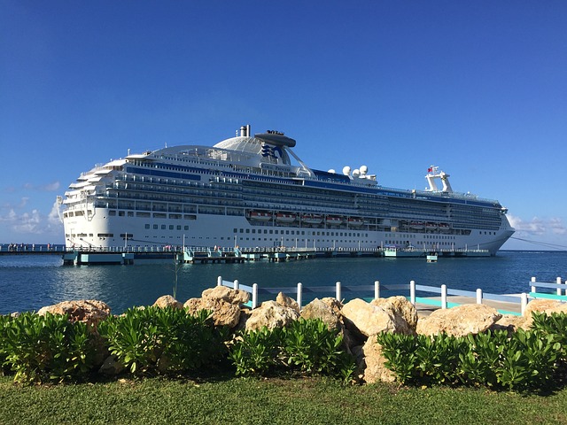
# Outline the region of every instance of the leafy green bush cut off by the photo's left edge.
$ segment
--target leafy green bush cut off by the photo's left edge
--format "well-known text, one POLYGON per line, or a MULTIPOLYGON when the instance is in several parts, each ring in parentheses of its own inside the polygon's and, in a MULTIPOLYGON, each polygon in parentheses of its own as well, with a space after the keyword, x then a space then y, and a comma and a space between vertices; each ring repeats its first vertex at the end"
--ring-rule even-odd
POLYGON ((61 314, 23 313, 3 319, 0 331, 0 356, 18 383, 77 380, 90 372, 95 349, 85 323, 61 314))

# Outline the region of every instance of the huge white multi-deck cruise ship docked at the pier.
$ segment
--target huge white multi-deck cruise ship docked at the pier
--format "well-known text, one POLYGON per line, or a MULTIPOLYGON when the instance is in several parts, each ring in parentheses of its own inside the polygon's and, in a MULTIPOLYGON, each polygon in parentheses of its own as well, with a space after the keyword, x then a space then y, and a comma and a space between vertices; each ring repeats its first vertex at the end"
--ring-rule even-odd
POLYGON ((485 250, 514 233, 507 210, 453 191, 430 166, 428 188, 378 184, 367 166, 316 170, 279 131, 242 126, 214 146, 129 154, 82 173, 58 197, 67 247, 163 246, 485 250))

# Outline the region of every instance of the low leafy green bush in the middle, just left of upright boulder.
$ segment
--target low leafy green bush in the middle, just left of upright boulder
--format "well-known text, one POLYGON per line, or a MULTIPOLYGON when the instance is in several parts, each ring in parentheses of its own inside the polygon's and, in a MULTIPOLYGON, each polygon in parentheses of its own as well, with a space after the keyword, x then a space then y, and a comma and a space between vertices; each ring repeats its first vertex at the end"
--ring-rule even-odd
POLYGON ((302 374, 352 379, 355 363, 343 349, 338 329, 329 329, 318 319, 294 321, 288 328, 262 328, 241 332, 229 358, 237 375, 302 374))

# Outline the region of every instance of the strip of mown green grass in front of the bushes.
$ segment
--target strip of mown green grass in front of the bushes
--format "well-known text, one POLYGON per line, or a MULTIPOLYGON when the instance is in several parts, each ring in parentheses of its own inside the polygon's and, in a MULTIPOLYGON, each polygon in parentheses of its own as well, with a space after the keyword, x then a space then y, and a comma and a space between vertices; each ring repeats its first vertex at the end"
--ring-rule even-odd
POLYGON ((547 397, 485 389, 341 386, 328 379, 159 378, 21 387, 0 377, 0 424, 567 423, 567 390, 547 397))

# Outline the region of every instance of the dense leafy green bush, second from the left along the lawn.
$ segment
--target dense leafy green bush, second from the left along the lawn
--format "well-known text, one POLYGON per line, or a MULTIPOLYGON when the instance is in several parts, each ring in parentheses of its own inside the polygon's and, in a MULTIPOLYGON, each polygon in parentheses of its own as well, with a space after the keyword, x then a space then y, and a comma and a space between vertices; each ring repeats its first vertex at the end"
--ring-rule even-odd
POLYGON ((209 316, 171 307, 130 308, 98 329, 109 351, 133 374, 190 372, 226 354, 225 334, 209 323, 209 316))

